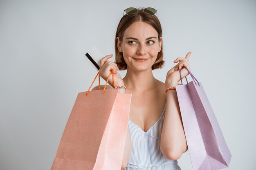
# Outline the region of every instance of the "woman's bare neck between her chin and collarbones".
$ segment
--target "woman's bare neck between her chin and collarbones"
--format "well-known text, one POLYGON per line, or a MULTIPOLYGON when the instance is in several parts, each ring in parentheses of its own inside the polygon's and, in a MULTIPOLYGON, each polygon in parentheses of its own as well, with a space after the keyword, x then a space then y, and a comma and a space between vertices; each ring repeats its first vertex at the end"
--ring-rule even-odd
POLYGON ((156 86, 157 79, 153 76, 152 70, 132 71, 127 69, 123 78, 124 85, 131 91, 147 91, 156 86))

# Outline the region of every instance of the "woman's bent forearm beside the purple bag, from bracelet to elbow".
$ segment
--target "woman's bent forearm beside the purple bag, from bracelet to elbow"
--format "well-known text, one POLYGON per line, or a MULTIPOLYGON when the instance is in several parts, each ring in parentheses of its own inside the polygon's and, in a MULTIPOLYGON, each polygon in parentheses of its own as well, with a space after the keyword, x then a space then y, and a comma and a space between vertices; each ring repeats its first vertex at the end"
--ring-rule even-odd
MULTIPOLYGON (((173 83, 171 86, 177 86, 173 83)), ((166 113, 161 134, 160 150, 164 157, 177 160, 188 150, 183 129, 180 106, 175 90, 166 92, 166 113)))

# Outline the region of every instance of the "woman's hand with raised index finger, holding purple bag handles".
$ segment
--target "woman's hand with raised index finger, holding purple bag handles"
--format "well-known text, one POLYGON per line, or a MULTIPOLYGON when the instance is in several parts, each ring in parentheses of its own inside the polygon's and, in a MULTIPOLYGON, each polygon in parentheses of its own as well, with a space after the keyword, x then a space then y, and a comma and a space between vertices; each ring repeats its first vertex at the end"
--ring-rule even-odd
POLYGON ((180 70, 181 70, 182 79, 185 76, 189 75, 189 72, 186 70, 186 68, 188 68, 189 71, 191 72, 191 70, 189 68, 190 54, 191 54, 191 52, 187 53, 185 58, 178 57, 176 60, 173 61, 174 63, 178 62, 178 64, 168 71, 168 73, 166 75, 166 79, 165 79, 165 87, 166 88, 178 85, 178 82, 180 81, 180 70), (182 68, 183 66, 185 66, 186 68, 182 68))

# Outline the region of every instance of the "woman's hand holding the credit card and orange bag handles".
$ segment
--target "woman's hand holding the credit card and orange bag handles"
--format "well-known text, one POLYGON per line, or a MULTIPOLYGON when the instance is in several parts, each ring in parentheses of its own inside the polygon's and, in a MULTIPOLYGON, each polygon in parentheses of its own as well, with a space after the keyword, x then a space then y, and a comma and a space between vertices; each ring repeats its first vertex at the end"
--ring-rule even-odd
MULTIPOLYGON (((100 67, 99 75, 105 81, 107 81, 108 76, 111 71, 114 74, 115 85, 116 86, 124 86, 124 82, 123 82, 121 75, 119 73, 117 73, 117 70, 119 70, 117 64, 115 64, 114 62, 108 61, 108 59, 110 59, 112 56, 113 56, 113 54, 106 55, 105 57, 103 57, 101 59, 100 66, 99 66, 100 67)), ((110 84, 110 86, 115 88, 114 84, 113 84, 112 75, 110 75, 110 77, 108 79, 108 84, 110 84)))

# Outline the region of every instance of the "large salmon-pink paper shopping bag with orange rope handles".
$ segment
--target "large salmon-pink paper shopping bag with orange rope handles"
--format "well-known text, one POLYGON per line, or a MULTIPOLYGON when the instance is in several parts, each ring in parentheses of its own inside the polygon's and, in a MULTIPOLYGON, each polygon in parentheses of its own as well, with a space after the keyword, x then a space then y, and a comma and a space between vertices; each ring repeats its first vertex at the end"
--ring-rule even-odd
POLYGON ((51 170, 121 169, 131 94, 105 88, 78 93, 51 170))

